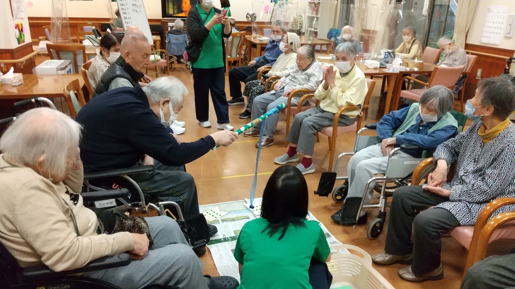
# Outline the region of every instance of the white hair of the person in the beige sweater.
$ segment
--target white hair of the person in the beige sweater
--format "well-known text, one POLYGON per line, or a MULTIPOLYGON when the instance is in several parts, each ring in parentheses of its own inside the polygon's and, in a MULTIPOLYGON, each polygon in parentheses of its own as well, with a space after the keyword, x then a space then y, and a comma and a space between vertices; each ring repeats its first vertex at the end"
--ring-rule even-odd
POLYGON ((44 156, 43 168, 64 175, 67 163, 77 153, 81 125, 69 116, 39 107, 21 114, 0 138, 0 150, 7 160, 36 166, 44 156))

